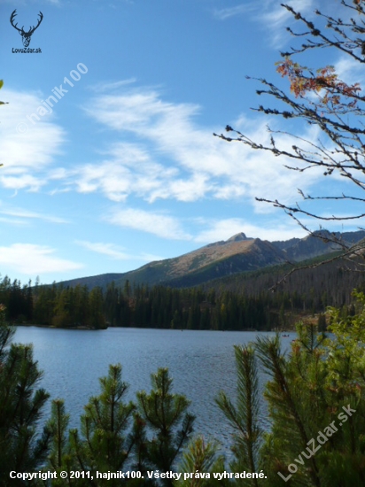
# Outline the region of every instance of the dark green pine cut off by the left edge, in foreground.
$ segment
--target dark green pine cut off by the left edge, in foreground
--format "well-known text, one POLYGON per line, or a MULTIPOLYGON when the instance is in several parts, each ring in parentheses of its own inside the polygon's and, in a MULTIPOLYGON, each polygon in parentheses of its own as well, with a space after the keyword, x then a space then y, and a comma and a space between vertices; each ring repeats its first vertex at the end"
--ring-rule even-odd
MULTIPOLYGON (((33 472, 43 465, 50 432, 37 434, 38 421, 49 398, 43 389, 35 389, 42 377, 33 358, 31 345, 12 344, 14 329, 4 321, 0 305, 0 485, 10 485, 9 473, 33 472)), ((13 479, 14 487, 24 485, 13 479)))

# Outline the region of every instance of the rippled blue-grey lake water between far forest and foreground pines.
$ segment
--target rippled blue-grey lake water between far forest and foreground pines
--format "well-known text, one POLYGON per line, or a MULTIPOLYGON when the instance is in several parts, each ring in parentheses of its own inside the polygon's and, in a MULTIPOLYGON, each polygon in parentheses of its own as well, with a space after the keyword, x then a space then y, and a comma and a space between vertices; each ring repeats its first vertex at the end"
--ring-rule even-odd
MULTIPOLYGON (((65 399, 72 428, 80 426, 83 406, 90 396, 99 393, 98 378, 107 375, 109 364, 122 365, 122 378, 130 385, 130 399, 134 399, 137 390, 151 390, 151 373, 168 367, 175 392, 185 394, 191 401, 190 411, 197 416, 195 432, 205 437, 213 435, 227 447, 231 432, 214 398, 219 390, 235 398, 233 345, 246 344, 257 335, 172 329, 18 327, 14 342, 34 344, 35 359, 43 370, 41 386, 51 398, 65 399)), ((291 338, 283 338, 284 347, 289 346, 291 338)), ((265 410, 262 416, 268 425, 265 410)))

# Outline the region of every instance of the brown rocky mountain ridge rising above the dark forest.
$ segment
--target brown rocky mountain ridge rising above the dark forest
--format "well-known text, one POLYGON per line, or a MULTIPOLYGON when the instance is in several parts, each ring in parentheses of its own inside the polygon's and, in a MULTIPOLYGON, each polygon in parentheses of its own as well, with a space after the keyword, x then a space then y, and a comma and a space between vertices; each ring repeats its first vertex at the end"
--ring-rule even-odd
POLYGON ((151 262, 134 271, 83 277, 61 284, 81 284, 92 288, 106 287, 108 283, 115 282, 116 286, 122 287, 128 280, 136 284, 161 283, 173 287, 190 287, 232 274, 276 266, 288 261, 300 262, 338 251, 339 246, 330 242, 333 236, 342 239, 344 243, 353 244, 365 238, 365 231, 330 234, 322 230, 316 236, 272 243, 239 233, 226 241, 209 243, 180 257, 151 262), (323 238, 327 238, 327 242, 323 238))

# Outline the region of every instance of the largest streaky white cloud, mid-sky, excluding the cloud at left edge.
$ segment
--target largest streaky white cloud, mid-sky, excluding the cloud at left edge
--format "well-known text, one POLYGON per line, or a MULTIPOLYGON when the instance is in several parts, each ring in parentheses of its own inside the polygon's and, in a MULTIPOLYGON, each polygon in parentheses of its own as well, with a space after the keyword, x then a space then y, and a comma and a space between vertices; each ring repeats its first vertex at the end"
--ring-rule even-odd
MULTIPOLYGON (((255 205, 253 198, 262 196, 289 201, 297 196, 298 187, 306 189, 315 182, 313 173, 284 169, 283 158, 214 137, 220 129, 195 122, 197 105, 168 103, 156 91, 96 97, 88 106, 89 116, 128 142, 114 143, 104 161, 69 174, 68 184, 81 192, 102 191, 113 201, 126 201, 130 195, 149 202, 249 197, 255 205), (131 142, 133 137, 136 141, 131 142)), ((245 133, 269 143, 267 123, 251 120, 245 133)), ((307 135, 312 137, 313 129, 307 135)), ((276 138, 281 147, 291 150, 293 140, 288 135, 276 138)))

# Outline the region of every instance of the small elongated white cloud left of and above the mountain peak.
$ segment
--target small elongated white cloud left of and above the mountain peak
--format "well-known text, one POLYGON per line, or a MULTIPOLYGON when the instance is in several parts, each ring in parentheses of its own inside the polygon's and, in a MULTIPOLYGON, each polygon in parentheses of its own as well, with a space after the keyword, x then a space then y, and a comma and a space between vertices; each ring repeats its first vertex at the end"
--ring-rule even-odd
POLYGON ((191 236, 182 229, 179 220, 163 213, 151 213, 128 208, 126 210, 115 210, 105 217, 105 220, 119 227, 140 230, 161 238, 172 240, 191 239, 191 236))

